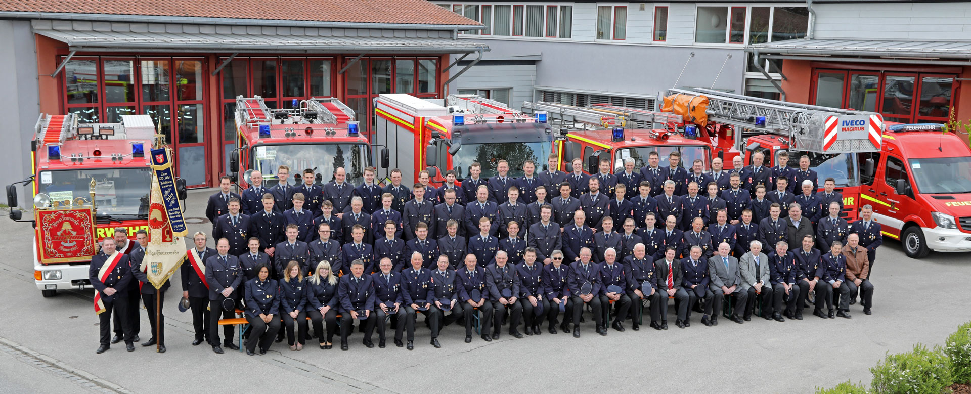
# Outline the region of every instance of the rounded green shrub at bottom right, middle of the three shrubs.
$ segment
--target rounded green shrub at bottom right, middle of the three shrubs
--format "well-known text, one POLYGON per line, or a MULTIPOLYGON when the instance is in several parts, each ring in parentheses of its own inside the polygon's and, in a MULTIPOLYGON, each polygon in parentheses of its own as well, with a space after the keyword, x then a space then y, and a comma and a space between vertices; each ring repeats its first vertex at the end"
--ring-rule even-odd
POLYGON ((951 360, 941 348, 928 350, 921 344, 909 353, 887 355, 870 372, 873 391, 879 394, 940 394, 954 382, 951 360))

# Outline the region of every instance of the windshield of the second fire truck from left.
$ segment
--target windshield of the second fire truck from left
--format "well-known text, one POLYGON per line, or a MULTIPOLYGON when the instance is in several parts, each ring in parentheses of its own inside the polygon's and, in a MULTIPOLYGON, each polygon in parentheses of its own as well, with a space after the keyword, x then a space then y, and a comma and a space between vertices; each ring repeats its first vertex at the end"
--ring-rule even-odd
POLYGON ((252 168, 263 174, 263 184, 277 184, 275 174, 280 166, 290 168, 290 183, 295 174, 306 169, 322 174, 324 183, 334 180, 334 170, 344 167, 347 181, 353 185, 364 182, 364 168, 370 163, 370 149, 364 144, 293 144, 260 145, 252 148, 252 168))

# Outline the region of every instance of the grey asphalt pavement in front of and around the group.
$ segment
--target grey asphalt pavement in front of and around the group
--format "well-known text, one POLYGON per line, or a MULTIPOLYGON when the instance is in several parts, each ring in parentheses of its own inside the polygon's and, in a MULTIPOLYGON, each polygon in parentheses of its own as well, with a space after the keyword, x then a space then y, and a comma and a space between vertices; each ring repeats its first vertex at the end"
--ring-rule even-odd
MULTIPOLYGON (((203 214, 211 193, 189 193, 185 215, 190 233, 211 232, 203 214)), ((964 291, 971 279, 967 253, 932 253, 912 260, 899 243, 886 239, 872 277, 873 314, 863 314, 856 304, 851 307, 852 319, 821 319, 808 310, 801 321, 753 318, 736 324, 721 318, 718 326, 705 327, 698 322, 700 314, 694 313, 691 327, 679 329, 672 302, 670 329, 665 331, 644 326, 635 332, 628 322, 625 332, 610 330, 601 337, 587 316, 580 339, 544 331, 518 340, 506 335, 504 327, 499 341, 485 343, 473 337, 472 344, 465 344, 464 328, 452 325, 443 329, 442 348, 436 349, 428 344, 428 330, 419 322, 413 351, 397 348, 390 340, 387 348, 369 349, 360 344, 362 334, 355 333, 350 351, 339 346, 320 350, 310 340, 301 351, 291 351, 284 343, 274 344, 266 355, 248 356, 192 346, 191 315, 176 308, 181 291, 169 291, 164 308, 166 353, 139 345, 129 353, 119 344, 96 355, 93 290, 41 297, 30 262, 32 231, 29 223, 0 219, 0 255, 7 256, 0 260, 0 299, 6 315, 0 319, 0 393, 212 393, 256 387, 274 392, 309 388, 423 394, 811 392, 815 386, 848 379, 868 382, 869 368, 887 351, 906 351, 915 343, 943 344, 959 324, 971 319, 971 295, 964 291)), ((215 246, 212 240, 210 246, 215 246)), ((178 273, 172 280, 173 290, 181 290, 178 273)), ((140 336, 146 341, 151 335, 144 308, 141 316, 140 336)))

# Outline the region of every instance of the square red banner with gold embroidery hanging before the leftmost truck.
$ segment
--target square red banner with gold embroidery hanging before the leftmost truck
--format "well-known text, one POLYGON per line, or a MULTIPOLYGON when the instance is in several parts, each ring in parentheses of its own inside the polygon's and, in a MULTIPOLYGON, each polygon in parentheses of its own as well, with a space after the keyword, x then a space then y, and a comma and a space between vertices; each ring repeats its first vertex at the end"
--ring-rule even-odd
POLYGON ((42 264, 90 260, 94 249, 91 207, 36 210, 42 264))

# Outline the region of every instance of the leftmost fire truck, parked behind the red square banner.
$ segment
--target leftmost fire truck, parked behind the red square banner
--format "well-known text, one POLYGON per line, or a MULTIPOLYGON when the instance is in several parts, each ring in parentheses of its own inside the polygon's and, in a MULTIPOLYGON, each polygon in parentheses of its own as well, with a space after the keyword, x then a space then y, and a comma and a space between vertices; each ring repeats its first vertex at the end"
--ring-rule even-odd
MULTIPOLYGON (((134 239, 136 231, 148 230, 151 164, 145 153, 153 138, 149 115, 122 115, 120 123, 79 123, 74 114, 41 115, 31 144, 34 174, 7 186, 7 204, 12 219, 34 223, 34 282, 45 297, 90 286, 90 256, 51 258, 39 240, 71 244, 75 241, 59 238, 70 231, 89 232, 89 242, 94 242, 111 237, 117 227, 126 228, 129 239, 134 239), (22 212, 15 209, 16 186, 30 183, 35 217, 49 210, 89 209, 93 197, 93 222, 87 222, 94 228, 47 229, 36 220, 21 219, 22 212)), ((177 180, 177 185, 184 199, 184 181, 177 180)))

